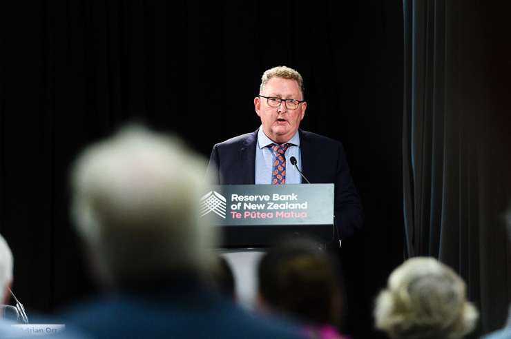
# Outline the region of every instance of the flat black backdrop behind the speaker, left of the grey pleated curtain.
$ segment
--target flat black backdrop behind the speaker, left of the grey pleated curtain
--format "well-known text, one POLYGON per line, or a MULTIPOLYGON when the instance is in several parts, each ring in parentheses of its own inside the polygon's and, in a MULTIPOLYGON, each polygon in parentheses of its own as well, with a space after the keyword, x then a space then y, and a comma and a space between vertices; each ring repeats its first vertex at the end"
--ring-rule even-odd
POLYGON ((342 141, 365 232, 343 242, 345 331, 403 260, 403 8, 398 1, 2 1, 0 232, 13 289, 52 312, 97 293, 68 216, 68 169, 127 121, 214 143, 255 130, 260 76, 305 78, 302 127, 342 141))

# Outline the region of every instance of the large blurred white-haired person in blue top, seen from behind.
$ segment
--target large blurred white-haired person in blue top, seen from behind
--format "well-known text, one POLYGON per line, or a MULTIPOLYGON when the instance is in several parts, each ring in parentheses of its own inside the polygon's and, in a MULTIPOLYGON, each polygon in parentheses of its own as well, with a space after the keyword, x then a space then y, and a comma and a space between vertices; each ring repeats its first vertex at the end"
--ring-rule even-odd
POLYGON ((302 338, 213 291, 216 229, 198 218, 202 163, 142 127, 81 154, 73 218, 96 276, 115 294, 66 312, 69 328, 90 338, 302 338))

